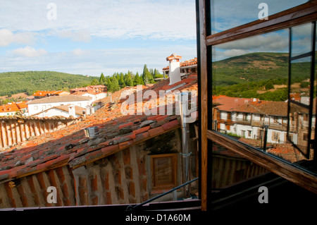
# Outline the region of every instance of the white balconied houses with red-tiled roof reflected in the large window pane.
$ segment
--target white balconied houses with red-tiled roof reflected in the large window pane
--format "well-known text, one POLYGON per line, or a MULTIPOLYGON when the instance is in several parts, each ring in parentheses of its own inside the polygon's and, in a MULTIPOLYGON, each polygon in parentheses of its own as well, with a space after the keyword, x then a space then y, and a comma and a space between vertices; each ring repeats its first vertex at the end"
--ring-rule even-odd
MULTIPOLYGON (((259 99, 220 96, 213 99, 213 126, 215 130, 241 138, 259 140, 263 146, 265 126, 266 142, 287 142, 287 103, 259 99)), ((294 142, 298 142, 294 133, 294 142)))

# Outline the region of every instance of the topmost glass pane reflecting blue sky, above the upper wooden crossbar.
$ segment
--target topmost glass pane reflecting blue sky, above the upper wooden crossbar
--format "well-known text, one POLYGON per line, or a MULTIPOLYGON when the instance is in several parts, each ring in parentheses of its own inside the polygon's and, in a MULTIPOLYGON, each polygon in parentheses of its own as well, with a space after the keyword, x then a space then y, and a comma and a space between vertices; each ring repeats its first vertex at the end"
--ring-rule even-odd
POLYGON ((259 20, 259 17, 265 17, 266 13, 267 16, 271 16, 305 2, 307 0, 213 0, 211 1, 211 34, 259 20))

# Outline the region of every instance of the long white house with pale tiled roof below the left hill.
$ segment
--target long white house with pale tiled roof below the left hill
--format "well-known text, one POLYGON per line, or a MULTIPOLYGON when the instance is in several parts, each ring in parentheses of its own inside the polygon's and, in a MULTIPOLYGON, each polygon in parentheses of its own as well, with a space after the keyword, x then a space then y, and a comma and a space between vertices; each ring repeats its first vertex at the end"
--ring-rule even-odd
POLYGON ((52 96, 44 97, 42 99, 37 99, 32 102, 27 102, 29 115, 39 114, 46 109, 51 109, 53 107, 59 107, 63 105, 73 104, 77 107, 85 108, 92 104, 92 97, 87 96, 76 96, 76 95, 66 95, 66 96, 52 96))

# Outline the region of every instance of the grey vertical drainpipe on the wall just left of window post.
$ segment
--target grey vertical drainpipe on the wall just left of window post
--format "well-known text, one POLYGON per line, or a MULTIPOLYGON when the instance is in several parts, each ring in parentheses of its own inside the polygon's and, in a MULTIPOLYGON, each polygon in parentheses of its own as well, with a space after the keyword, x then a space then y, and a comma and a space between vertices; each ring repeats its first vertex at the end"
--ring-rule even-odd
MULTIPOLYGON (((192 152, 189 152, 189 120, 187 119, 187 116, 190 116, 190 114, 187 115, 189 97, 191 97, 189 92, 182 92, 180 95, 178 95, 182 126, 182 152, 180 153, 182 155, 182 183, 186 183, 187 181, 189 181, 189 157, 190 154, 192 154, 192 152)), ((191 198, 190 192, 190 184, 184 186, 184 199, 191 198)))

